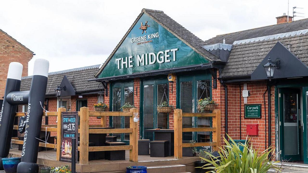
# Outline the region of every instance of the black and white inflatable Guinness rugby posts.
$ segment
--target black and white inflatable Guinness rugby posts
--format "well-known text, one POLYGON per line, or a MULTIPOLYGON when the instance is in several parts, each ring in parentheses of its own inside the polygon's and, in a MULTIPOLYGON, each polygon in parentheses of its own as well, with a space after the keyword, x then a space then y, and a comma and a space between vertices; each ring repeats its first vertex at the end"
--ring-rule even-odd
MULTIPOLYGON (((18 104, 27 104, 26 130, 22 145, 21 163, 18 164, 18 173, 37 173, 36 164, 39 137, 43 118, 43 103, 46 94, 49 62, 37 59, 30 91, 19 91, 22 75, 22 64, 11 62, 8 70, 6 89, 0 115, 0 159, 9 154, 14 118, 18 104)), ((0 168, 3 169, 2 162, 0 168)))

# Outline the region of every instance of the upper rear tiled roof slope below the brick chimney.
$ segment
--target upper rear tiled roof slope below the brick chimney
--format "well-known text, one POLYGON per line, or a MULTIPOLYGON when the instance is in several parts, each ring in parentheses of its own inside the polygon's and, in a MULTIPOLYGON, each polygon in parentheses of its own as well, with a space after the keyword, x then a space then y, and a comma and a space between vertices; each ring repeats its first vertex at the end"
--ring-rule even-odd
POLYGON ((225 38, 226 44, 232 44, 234 41, 243 40, 248 38, 262 37, 266 35, 273 35, 279 33, 285 33, 296 30, 303 30, 308 28, 308 18, 302 20, 296 20, 289 23, 281 23, 269 26, 263 26, 259 28, 253 28, 249 30, 243 30, 238 32, 233 32, 229 34, 217 35, 214 38, 206 40, 206 44, 222 43, 225 38))

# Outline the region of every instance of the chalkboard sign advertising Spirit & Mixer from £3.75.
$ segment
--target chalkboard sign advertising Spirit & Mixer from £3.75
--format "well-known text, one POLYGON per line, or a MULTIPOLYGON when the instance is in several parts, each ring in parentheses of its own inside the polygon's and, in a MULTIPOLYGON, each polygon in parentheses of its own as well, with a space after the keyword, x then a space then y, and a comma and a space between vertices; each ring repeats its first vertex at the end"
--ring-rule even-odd
MULTIPOLYGON (((58 120, 59 121, 59 120, 58 120)), ((76 138, 76 163, 78 146, 78 112, 61 112, 61 162, 71 162, 72 139, 76 138)))

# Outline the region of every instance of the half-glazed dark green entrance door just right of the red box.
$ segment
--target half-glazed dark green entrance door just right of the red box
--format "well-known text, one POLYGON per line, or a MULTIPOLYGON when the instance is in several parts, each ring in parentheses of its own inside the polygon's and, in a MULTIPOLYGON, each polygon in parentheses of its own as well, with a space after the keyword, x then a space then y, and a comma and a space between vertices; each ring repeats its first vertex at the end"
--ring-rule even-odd
POLYGON ((281 159, 300 161, 301 157, 301 122, 300 89, 281 88, 279 90, 280 112, 280 148, 281 159))

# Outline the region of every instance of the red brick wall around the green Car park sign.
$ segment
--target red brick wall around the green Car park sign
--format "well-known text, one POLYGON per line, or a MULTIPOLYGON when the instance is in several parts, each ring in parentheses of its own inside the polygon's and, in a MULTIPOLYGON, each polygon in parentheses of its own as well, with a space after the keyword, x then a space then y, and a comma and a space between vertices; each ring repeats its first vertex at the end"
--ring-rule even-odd
MULTIPOLYGON (((221 110, 221 138, 225 136, 225 90, 224 87, 217 82, 217 89, 213 89, 213 99, 218 103, 217 109, 221 110)), ((247 104, 261 104, 261 119, 245 119, 244 118, 244 99, 242 97, 243 83, 241 83, 241 91, 239 83, 227 83, 228 88, 228 134, 233 139, 246 139, 246 125, 257 123, 259 125, 259 135, 249 135, 250 144, 256 149, 264 150, 265 147, 265 116, 268 118, 268 99, 267 92, 265 93, 265 109, 263 94, 266 91, 266 82, 247 82, 247 89, 250 91, 250 96, 247 98, 247 104), (240 107, 241 97, 241 107, 240 107), (241 114, 240 114, 241 109, 241 114), (240 124, 241 119, 241 124, 240 124)), ((271 88, 271 144, 275 146, 275 91, 274 86, 271 88)), ((268 121, 266 120, 266 128, 268 121)), ((267 129, 268 133, 268 129, 267 129)), ((266 140, 268 134, 266 135, 266 140)), ((222 141, 221 141, 222 142, 222 141)), ((266 141, 268 146, 268 141, 266 141)))

